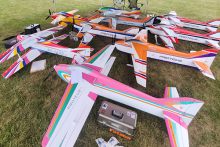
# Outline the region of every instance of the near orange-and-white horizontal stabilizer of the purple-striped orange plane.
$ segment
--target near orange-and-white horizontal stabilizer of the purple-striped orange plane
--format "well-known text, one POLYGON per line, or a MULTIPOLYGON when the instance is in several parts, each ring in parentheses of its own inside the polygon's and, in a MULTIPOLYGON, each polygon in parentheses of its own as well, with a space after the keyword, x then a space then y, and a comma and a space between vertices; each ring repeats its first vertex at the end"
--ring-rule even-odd
POLYGON ((198 69, 207 77, 211 78, 211 79, 214 79, 215 80, 215 77, 214 75, 212 74, 212 71, 210 70, 209 66, 206 65, 205 63, 203 62, 200 62, 200 61, 193 61, 195 63, 195 65, 198 67, 198 69))

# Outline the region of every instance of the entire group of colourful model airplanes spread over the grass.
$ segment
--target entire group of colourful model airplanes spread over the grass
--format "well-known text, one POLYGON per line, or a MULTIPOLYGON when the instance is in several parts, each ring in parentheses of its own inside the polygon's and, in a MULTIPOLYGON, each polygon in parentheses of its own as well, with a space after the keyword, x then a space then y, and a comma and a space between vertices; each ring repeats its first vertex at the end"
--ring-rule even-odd
POLYGON ((172 42, 179 43, 178 39, 182 39, 220 49, 220 31, 217 31, 220 20, 198 22, 177 16, 174 11, 138 20, 140 9, 128 12, 111 7, 97 10, 103 14, 102 17, 95 15, 86 19, 74 15, 77 11, 49 11, 50 15, 46 19, 51 17, 51 23, 58 24, 57 27, 31 35, 18 35, 19 42, 0 56, 2 63, 18 55, 18 60, 3 73, 4 78, 10 77, 42 53, 73 59, 70 63, 72 65, 56 65, 51 71, 56 71, 68 86, 43 138, 42 146, 73 146, 98 95, 165 119, 171 146, 189 146, 187 126, 204 102, 193 98, 180 98, 174 87, 167 87, 164 98, 157 99, 107 77, 115 60, 111 54, 115 47, 130 54, 137 83, 144 87, 147 78, 147 58, 193 67, 203 75, 215 79, 210 66, 217 50, 182 53, 175 51, 172 42), (109 26, 99 25, 100 21, 107 22, 109 26), (77 37, 82 37, 78 48, 71 49, 57 44, 68 37, 66 34, 53 36, 50 40, 45 39, 70 23, 78 30, 77 37), (133 27, 120 31, 116 29, 118 24, 133 27), (139 31, 138 27, 143 29, 139 31), (178 27, 190 27, 210 33, 198 34, 178 27), (149 43, 148 31, 155 34, 156 38, 158 35, 167 48, 149 43), (92 49, 87 44, 95 36, 108 37, 114 42, 115 39, 121 41, 115 42, 115 45, 107 45, 90 57, 92 49), (20 56, 19 53, 23 50, 28 51, 20 56))

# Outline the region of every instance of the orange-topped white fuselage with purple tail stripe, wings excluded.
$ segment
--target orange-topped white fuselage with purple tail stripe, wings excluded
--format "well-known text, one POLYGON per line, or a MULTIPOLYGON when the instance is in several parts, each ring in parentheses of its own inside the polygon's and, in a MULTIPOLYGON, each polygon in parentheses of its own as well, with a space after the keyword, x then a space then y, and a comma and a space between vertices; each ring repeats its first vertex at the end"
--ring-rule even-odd
MULTIPOLYGON (((116 42, 116 48, 119 51, 122 51, 124 53, 132 54, 132 46, 129 44, 125 44, 123 41, 116 42)), ((193 68, 197 68, 197 66, 193 63, 193 60, 199 59, 199 61, 204 61, 208 66, 210 66, 210 63, 207 63, 208 58, 213 58, 216 56, 216 53, 209 53, 206 51, 199 51, 196 53, 182 53, 175 50, 170 50, 164 47, 156 46, 150 43, 146 44, 147 48, 147 58, 151 58, 154 60, 160 60, 175 64, 180 64, 184 66, 190 66, 193 68), (207 57, 206 57, 207 56, 207 57)), ((198 69, 199 70, 199 69, 198 69)))

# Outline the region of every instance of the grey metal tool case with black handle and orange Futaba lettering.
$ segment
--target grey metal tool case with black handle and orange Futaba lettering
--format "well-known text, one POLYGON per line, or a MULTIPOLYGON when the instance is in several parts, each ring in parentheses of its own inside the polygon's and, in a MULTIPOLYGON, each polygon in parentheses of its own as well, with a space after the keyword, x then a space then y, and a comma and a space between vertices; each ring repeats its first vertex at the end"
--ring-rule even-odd
POLYGON ((110 132, 131 140, 134 136, 137 113, 103 101, 98 111, 98 124, 110 132))

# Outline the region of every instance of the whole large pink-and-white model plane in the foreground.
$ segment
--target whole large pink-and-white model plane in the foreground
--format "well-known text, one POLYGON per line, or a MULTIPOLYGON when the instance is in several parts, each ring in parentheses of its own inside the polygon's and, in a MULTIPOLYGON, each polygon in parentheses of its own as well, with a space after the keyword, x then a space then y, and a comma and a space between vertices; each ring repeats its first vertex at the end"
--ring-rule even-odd
POLYGON ((154 98, 107 77, 106 69, 109 71, 113 64, 108 60, 113 49, 113 45, 107 46, 81 65, 54 66, 68 86, 42 146, 74 146, 98 95, 165 119, 172 147, 189 146, 187 126, 204 102, 179 98, 176 88, 171 87, 166 88, 164 98, 154 98))

